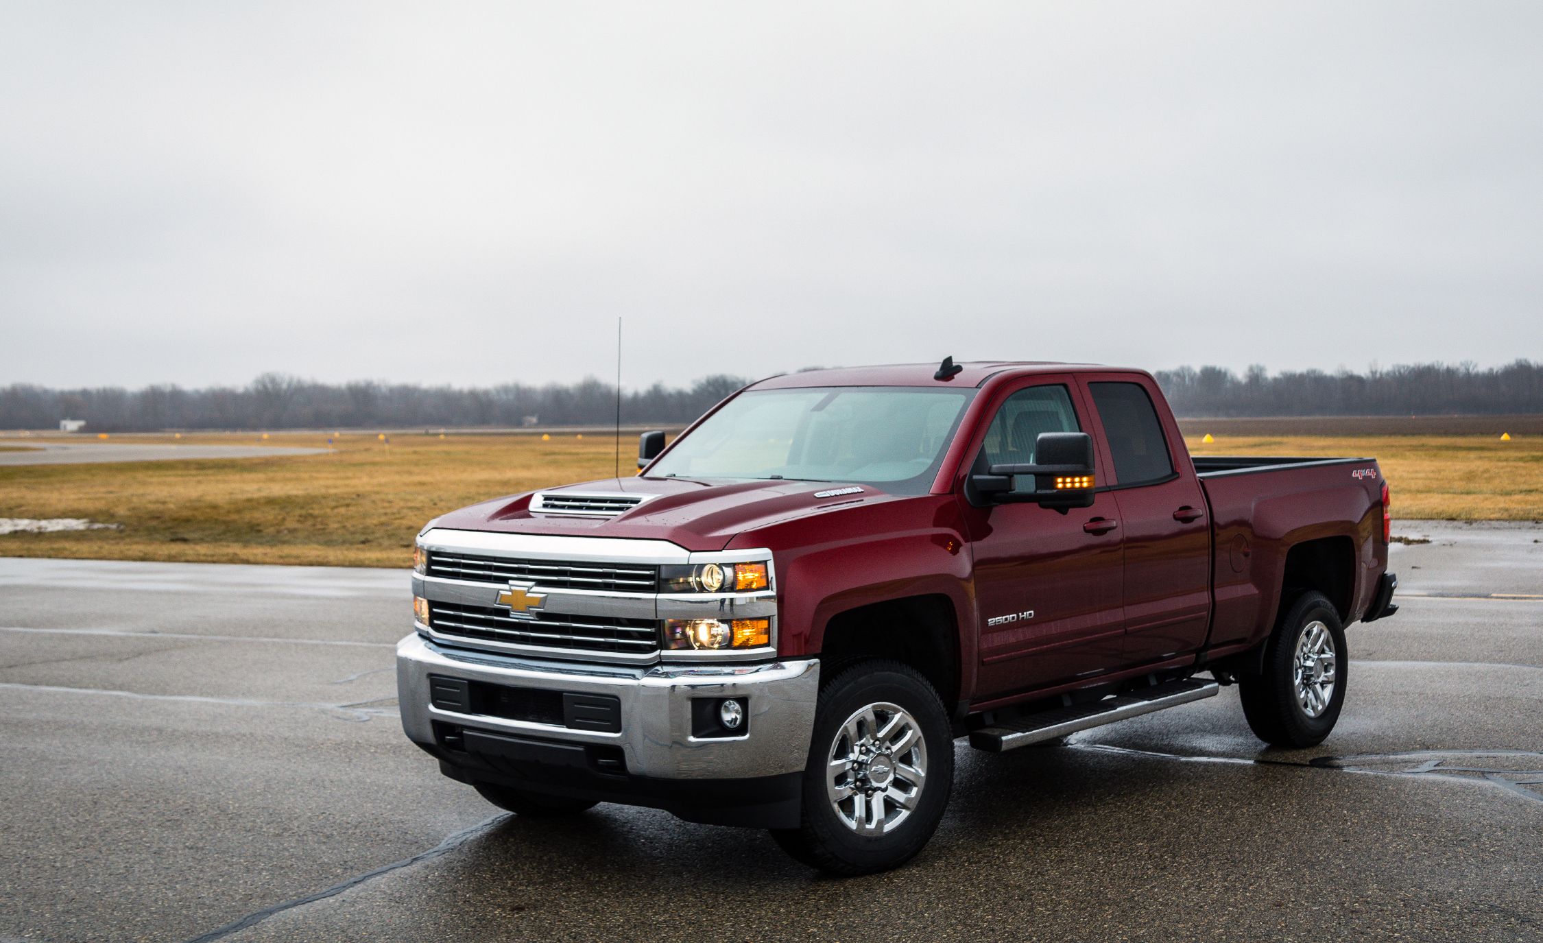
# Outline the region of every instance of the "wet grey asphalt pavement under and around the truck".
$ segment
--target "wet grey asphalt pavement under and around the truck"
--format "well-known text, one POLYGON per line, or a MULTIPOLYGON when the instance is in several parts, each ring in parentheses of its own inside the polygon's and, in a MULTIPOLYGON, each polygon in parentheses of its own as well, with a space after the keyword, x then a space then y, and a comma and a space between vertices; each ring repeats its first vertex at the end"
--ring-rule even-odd
POLYGON ((401 735, 404 573, 0 559, 3 940, 1543 940, 1543 526, 1401 522, 1321 747, 1233 690, 957 744, 910 866, 503 815, 401 735), (1529 599, 1531 597, 1531 599, 1529 599))

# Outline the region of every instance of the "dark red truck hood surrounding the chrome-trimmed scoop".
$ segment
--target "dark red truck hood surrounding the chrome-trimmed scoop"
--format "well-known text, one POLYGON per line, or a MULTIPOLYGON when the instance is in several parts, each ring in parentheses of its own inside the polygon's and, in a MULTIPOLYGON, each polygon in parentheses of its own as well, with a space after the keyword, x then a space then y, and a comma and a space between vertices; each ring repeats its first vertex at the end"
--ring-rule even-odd
MULTIPOLYGON (((494 499, 429 522, 432 528, 495 531, 552 537, 620 537, 668 540, 690 551, 716 551, 736 534, 836 508, 901 500, 870 485, 842 482, 742 482, 722 478, 605 478, 583 485, 543 488, 494 499), (846 491, 847 494, 829 494, 846 491), (540 495, 625 494, 642 497, 614 517, 545 514, 531 511, 540 495), (816 497, 824 495, 824 497, 816 497)), ((424 528, 427 529, 427 528, 424 528)))

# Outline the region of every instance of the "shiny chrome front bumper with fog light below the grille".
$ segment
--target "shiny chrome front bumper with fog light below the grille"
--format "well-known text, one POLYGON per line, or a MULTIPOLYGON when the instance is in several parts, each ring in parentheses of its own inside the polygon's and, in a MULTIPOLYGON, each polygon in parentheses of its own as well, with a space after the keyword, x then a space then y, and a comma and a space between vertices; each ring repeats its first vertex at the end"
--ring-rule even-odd
POLYGON ((648 667, 552 662, 452 648, 414 633, 397 645, 397 690, 403 730, 435 753, 443 753, 435 741, 435 722, 440 722, 560 744, 620 747, 631 776, 739 779, 804 769, 819 693, 819 662, 648 667), (620 701, 620 732, 441 710, 430 702, 430 674, 514 688, 609 695, 620 701), (745 698, 748 733, 693 736, 691 701, 697 698, 745 698))

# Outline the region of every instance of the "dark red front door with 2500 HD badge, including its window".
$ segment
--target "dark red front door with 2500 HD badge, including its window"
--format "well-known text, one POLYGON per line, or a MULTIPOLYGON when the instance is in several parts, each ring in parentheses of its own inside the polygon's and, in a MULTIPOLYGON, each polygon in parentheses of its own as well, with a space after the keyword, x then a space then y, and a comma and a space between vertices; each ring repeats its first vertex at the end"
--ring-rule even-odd
MULTIPOLYGON (((1069 378, 1009 392, 977 468, 1032 463, 1040 432, 1088 429, 1069 378)), ((1097 472, 1102 472, 1102 460, 1097 472)), ((1120 659, 1120 509, 1113 494, 1068 512, 966 505, 980 627, 977 701, 1097 674, 1120 659)))

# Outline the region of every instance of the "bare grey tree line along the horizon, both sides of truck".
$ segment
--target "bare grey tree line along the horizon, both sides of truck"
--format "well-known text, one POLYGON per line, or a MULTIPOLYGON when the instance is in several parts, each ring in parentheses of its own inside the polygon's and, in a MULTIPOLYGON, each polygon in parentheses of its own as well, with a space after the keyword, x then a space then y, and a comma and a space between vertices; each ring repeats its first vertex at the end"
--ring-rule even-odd
MULTIPOLYGON (((1262 366, 1242 377, 1224 367, 1159 370, 1157 381, 1180 417, 1543 414, 1543 366, 1412 364, 1282 372, 1262 366)), ((744 386, 714 375, 690 387, 656 383, 623 390, 622 421, 682 426, 744 386)), ((356 381, 315 383, 264 373, 248 386, 182 389, 148 386, 56 390, 0 389, 0 429, 54 429, 85 420, 97 432, 159 429, 322 429, 603 426, 616 418, 616 387, 596 378, 571 384, 451 387, 356 381)))

